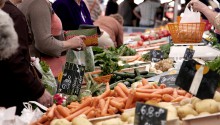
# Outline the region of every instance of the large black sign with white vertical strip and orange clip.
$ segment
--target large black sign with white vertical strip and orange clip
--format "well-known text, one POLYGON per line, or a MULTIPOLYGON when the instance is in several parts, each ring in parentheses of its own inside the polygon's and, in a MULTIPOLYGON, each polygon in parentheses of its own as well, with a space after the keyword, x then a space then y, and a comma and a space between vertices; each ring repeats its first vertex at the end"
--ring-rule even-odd
POLYGON ((197 86, 198 90, 193 95, 200 99, 207 99, 213 98, 219 81, 220 76, 215 71, 207 70, 207 67, 205 70, 204 66, 195 60, 185 60, 181 65, 175 84, 192 94, 197 86))

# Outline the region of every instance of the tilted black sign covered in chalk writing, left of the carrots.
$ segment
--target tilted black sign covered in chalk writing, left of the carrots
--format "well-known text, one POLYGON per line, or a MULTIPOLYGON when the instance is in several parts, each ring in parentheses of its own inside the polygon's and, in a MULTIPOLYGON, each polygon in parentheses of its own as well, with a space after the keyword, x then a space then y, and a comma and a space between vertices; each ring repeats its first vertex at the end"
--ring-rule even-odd
POLYGON ((85 67, 66 62, 59 92, 68 95, 79 95, 85 67))

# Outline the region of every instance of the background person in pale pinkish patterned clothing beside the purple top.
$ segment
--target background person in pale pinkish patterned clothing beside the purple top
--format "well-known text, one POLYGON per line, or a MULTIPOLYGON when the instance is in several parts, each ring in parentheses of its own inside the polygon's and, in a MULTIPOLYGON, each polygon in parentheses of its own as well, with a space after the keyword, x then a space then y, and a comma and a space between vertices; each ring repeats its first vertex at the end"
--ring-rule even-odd
POLYGON ((86 1, 89 4, 91 19, 94 22, 102 14, 101 5, 99 3, 99 0, 86 0, 86 1))

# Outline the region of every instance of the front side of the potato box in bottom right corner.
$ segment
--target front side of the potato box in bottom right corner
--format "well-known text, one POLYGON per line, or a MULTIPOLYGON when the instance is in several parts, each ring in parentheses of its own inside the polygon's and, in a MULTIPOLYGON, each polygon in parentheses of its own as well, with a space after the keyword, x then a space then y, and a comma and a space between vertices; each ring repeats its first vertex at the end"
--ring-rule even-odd
POLYGON ((220 125, 220 113, 183 119, 183 125, 220 125))

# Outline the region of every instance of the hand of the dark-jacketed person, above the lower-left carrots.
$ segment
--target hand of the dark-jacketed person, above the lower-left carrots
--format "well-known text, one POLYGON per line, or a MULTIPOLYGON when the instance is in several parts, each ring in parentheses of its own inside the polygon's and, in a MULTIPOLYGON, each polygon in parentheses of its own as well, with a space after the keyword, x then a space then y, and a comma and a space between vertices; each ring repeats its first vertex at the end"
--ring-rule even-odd
POLYGON ((47 90, 44 90, 44 94, 37 101, 46 107, 53 105, 53 97, 47 90))

